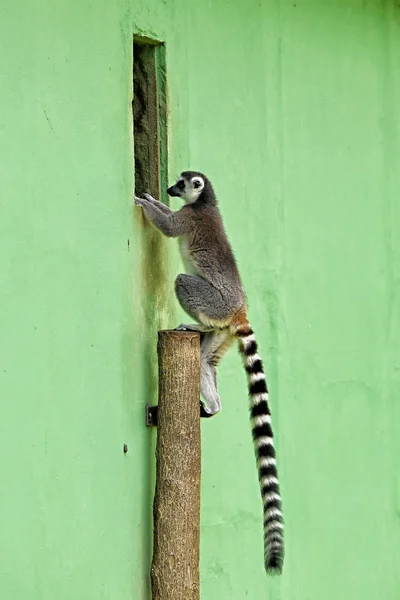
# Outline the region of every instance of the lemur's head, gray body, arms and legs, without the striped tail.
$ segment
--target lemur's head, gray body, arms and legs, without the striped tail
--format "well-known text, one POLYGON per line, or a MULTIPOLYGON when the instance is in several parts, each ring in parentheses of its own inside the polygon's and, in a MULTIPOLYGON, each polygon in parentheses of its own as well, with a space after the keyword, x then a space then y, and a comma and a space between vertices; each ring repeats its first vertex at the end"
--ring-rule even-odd
POLYGON ((179 237, 188 274, 178 275, 175 292, 183 310, 197 321, 197 330, 209 332, 202 336, 201 395, 214 414, 221 403, 212 362, 217 362, 217 352, 229 333, 213 332, 229 324, 232 314, 245 304, 245 295, 209 180, 201 173, 186 171, 168 193, 182 197, 186 205, 174 212, 149 194, 135 197, 135 204, 164 235, 179 237))

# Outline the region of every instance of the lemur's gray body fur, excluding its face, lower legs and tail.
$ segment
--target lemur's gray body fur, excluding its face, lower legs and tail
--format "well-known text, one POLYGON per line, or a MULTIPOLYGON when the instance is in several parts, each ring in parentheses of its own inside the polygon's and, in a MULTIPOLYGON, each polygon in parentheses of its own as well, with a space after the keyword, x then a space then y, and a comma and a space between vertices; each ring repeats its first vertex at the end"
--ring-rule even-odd
MULTIPOLYGON (((199 323, 204 314, 211 321, 224 321, 245 304, 245 295, 210 182, 200 173, 187 171, 177 183, 183 181, 190 188, 193 178, 204 181, 201 195, 177 212, 148 194, 145 199, 135 198, 135 203, 164 235, 182 238, 182 258, 192 273, 178 275, 175 282, 182 308, 199 323)), ((188 189, 176 186, 169 188, 171 195, 186 192, 189 196, 188 189)))

